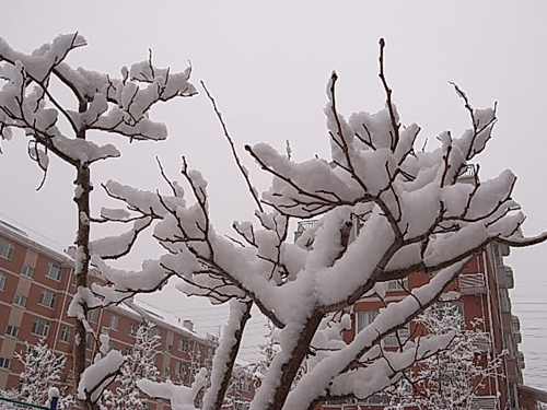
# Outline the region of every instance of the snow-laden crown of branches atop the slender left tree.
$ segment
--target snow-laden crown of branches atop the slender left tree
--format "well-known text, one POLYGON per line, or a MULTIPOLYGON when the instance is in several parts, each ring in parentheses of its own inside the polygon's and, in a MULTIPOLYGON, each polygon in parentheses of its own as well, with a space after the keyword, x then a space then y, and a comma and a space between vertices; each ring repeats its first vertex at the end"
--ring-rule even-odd
POLYGON ((0 74, 4 80, 0 91, 0 129, 2 139, 10 139, 12 128, 22 129, 45 150, 33 148, 31 157, 46 172, 44 160, 48 151, 77 165, 119 156, 112 144, 100 147, 83 136, 88 130, 117 133, 130 140, 162 140, 166 127, 149 118, 150 108, 158 102, 188 97, 197 93, 189 82, 191 69, 171 72, 147 61, 123 68, 120 79, 90 70, 70 68, 65 61, 69 52, 85 46, 75 34, 61 35, 25 55, 13 50, 0 39, 0 74), (57 78, 78 101, 75 109, 65 107, 56 97, 51 79, 57 78), (63 117, 73 136, 63 134, 57 127, 63 117))

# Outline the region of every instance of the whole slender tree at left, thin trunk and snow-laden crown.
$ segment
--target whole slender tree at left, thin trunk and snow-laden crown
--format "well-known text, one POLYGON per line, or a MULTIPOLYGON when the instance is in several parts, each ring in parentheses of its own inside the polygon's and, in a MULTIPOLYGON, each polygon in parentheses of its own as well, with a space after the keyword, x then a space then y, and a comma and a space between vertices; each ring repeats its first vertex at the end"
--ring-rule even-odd
MULTIPOLYGON (((167 137, 166 127, 150 119, 150 108, 159 102, 196 93, 194 85, 188 82, 190 69, 175 73, 170 69, 158 68, 152 63, 151 52, 148 60, 137 62, 129 69, 121 68, 119 78, 83 68, 73 69, 66 59, 71 51, 83 46, 86 46, 85 38, 74 33, 60 35, 25 55, 0 38, 0 79, 3 80, 0 91, 0 139, 11 139, 13 129, 25 133, 28 138, 28 155, 44 172, 42 184, 46 179, 51 154, 71 165, 75 172, 73 200, 78 207, 78 291, 69 307, 69 316, 77 319, 77 385, 85 370, 84 341, 86 331, 91 329, 86 323, 88 312, 101 306, 101 301, 90 292, 88 281, 93 254, 93 245, 90 244, 91 222, 100 221, 92 216, 90 208, 93 190, 91 166, 97 161, 120 155, 113 144, 98 145, 92 141, 92 137, 106 132, 129 141, 163 140, 167 137), (74 107, 67 106, 59 98, 60 86, 75 98, 74 107), (61 127, 61 122, 68 127, 61 127)), ((151 219, 136 221, 136 231, 150 222, 151 219)), ((126 241, 133 239, 131 233, 126 235, 126 241)), ((116 249, 109 250, 101 251, 102 257, 119 256, 116 249)), ((88 377, 88 380, 91 379, 102 384, 97 377, 88 377)), ((84 388, 90 391, 94 387, 84 388)), ((93 409, 94 405, 85 400, 82 401, 84 409, 93 409)))

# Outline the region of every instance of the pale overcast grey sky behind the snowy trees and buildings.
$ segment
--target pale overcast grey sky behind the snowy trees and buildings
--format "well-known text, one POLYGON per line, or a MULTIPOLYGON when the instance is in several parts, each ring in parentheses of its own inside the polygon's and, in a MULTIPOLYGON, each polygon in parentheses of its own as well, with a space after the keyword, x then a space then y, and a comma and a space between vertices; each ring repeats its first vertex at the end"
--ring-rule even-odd
MULTIPOLYGON (((386 73, 401 120, 420 125, 429 143, 445 129, 458 134, 469 125, 449 81, 465 90, 476 107, 498 102, 499 122, 480 157, 481 178, 513 169, 519 176, 514 198, 528 215, 524 232, 547 229, 545 1, 19 0, 4 1, 1 11, 0 36, 22 51, 61 33, 83 34, 89 46, 69 57, 73 67, 117 74, 120 67, 147 58, 148 48, 153 49, 156 65, 174 70, 191 60, 194 82, 206 81, 242 152, 243 144, 258 141, 283 149, 289 139, 295 160, 328 156, 323 107, 331 70, 340 77, 342 113, 383 107, 377 42, 384 37, 386 73)), ((218 231, 228 232, 233 220, 249 219, 253 202, 203 93, 156 107, 152 117, 167 124, 167 141, 129 145, 117 137, 97 139, 119 141, 123 157, 97 164, 95 186, 115 178, 155 188, 161 179, 154 155, 175 177, 184 154, 210 181, 218 231)), ((3 142, 2 150, 0 216, 70 244, 75 231, 72 169, 53 161, 46 185, 36 192, 42 175, 26 159, 24 138, 3 142)), ((257 185, 266 188, 268 178, 242 155, 257 185)), ((95 197, 98 210, 104 200, 98 189, 95 197)), ((516 281, 514 311, 523 311, 527 382, 547 388, 540 377, 547 365, 531 362, 535 350, 543 351, 547 336, 547 305, 542 307, 545 253, 545 246, 515 249, 509 262, 516 281), (523 304, 529 301, 533 305, 523 304)), ((152 254, 149 245, 139 248, 139 256, 152 254)), ((168 306, 184 309, 177 302, 168 306)), ((196 319, 200 312, 194 311, 196 319)))

